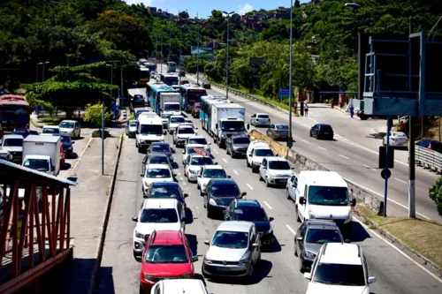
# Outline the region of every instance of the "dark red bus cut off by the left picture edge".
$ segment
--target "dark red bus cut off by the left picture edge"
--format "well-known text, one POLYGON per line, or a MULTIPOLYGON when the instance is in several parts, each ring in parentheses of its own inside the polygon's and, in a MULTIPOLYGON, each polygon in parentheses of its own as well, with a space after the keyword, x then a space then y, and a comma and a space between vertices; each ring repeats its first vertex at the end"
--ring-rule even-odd
POLYGON ((4 133, 11 133, 16 128, 29 128, 30 115, 31 108, 25 96, 0 96, 0 124, 4 133))

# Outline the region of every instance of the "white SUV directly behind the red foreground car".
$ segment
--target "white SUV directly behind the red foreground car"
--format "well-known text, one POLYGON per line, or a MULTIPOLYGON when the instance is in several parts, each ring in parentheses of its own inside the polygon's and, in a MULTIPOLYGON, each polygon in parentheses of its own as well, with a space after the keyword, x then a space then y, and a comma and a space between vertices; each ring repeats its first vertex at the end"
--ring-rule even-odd
POLYGON ((136 222, 133 230, 133 257, 141 259, 147 238, 154 230, 185 230, 186 211, 176 199, 147 199, 140 212, 132 218, 136 222))

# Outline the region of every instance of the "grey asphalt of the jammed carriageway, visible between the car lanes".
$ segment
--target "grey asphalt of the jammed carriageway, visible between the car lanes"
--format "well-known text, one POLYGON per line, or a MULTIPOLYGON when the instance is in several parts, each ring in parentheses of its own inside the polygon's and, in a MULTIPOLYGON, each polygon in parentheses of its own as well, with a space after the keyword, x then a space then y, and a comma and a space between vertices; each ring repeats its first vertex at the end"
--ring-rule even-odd
MULTIPOLYGON (((207 135, 201 130, 200 134, 207 135)), ((166 136, 171 143, 171 136, 166 136)), ((213 141, 210 139, 210 141, 213 141)), ((274 234, 278 239, 270 253, 263 253, 262 263, 255 272, 252 283, 229 279, 228 281, 205 281, 210 293, 305 293, 307 280, 299 271, 299 259, 293 255, 294 232, 300 223, 294 219, 293 202, 286 199, 284 189, 266 188, 246 167, 244 159, 231 159, 225 150, 212 146, 215 161, 225 167, 227 174, 240 185, 242 192, 247 192, 248 199, 259 200, 272 222, 274 234)), ((134 139, 125 139, 123 143, 114 198, 110 211, 110 220, 106 232, 102 266, 98 274, 96 292, 101 293, 138 293, 141 264, 133 259, 132 234, 135 223, 131 218, 138 214, 142 202, 140 165, 144 155, 138 154, 134 139)), ((189 242, 200 260, 194 263, 196 273, 201 273, 202 256, 207 250, 203 241, 210 239, 221 222, 208 219, 202 205, 202 197, 195 184, 187 182, 183 176, 181 148, 176 148, 175 161, 179 163, 177 180, 183 190, 189 193, 187 198, 186 226, 189 242)), ((372 284, 373 293, 440 293, 442 281, 429 275, 422 268, 398 252, 391 245, 366 230, 359 222, 354 222, 354 243, 362 245, 369 262, 370 275, 377 277, 372 284)))

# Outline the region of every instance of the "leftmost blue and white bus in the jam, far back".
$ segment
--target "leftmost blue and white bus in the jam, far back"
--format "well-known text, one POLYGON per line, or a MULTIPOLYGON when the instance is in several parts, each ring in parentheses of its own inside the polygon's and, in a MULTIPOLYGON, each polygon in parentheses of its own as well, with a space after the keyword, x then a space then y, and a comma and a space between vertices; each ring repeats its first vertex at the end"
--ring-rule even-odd
MULTIPOLYGON (((150 107, 158 116, 161 116, 164 102, 175 102, 180 99, 179 92, 161 82, 149 83, 146 87, 146 93, 149 96, 150 107)), ((179 107, 180 104, 178 103, 179 107)))

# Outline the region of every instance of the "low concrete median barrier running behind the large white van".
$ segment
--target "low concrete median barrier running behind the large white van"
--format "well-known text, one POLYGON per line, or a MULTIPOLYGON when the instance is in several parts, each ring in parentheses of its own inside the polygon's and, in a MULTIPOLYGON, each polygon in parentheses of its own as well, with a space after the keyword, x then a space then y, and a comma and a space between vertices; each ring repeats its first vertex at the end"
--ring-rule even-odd
MULTIPOLYGON (((269 143, 274 152, 293 163, 293 166, 297 172, 300 170, 328 170, 321 164, 312 161, 308 157, 301 155, 292 149, 288 149, 286 146, 283 146, 278 142, 275 142, 261 132, 252 130, 249 132, 249 137, 252 140, 261 139, 269 143)), ((349 181, 346 178, 344 178, 344 180, 347 182, 348 192, 350 192, 350 195, 356 199, 357 203, 362 203, 366 207, 369 207, 377 215, 382 215, 384 211, 384 201, 379 200, 377 196, 354 184, 352 181, 349 181)))

